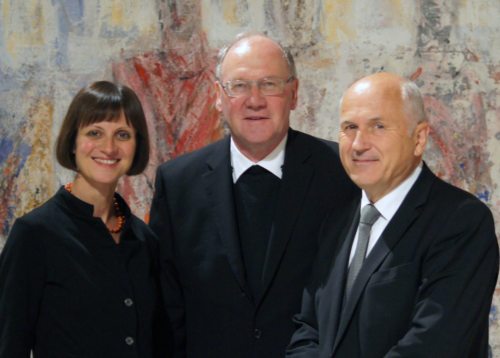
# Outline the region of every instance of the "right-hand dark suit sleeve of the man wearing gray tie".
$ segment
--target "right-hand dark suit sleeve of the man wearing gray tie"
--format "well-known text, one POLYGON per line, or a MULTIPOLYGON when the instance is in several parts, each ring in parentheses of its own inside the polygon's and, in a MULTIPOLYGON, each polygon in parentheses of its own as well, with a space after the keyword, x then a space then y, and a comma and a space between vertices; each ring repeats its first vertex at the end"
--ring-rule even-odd
POLYGON ((498 275, 498 243, 487 207, 469 199, 456 208, 423 259, 411 324, 385 357, 479 356, 474 345, 484 339, 477 337, 487 339, 498 275))

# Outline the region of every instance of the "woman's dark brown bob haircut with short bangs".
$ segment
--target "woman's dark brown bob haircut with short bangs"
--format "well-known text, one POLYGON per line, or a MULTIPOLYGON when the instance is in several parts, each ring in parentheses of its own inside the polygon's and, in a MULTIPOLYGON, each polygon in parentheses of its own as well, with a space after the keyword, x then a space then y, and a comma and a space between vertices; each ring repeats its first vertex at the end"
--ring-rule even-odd
POLYGON ((56 144, 56 157, 63 167, 77 171, 75 140, 79 128, 102 121, 115 121, 125 115, 136 131, 134 161, 128 175, 142 173, 149 161, 149 135, 139 98, 130 88, 118 83, 98 81, 82 88, 71 101, 56 144))

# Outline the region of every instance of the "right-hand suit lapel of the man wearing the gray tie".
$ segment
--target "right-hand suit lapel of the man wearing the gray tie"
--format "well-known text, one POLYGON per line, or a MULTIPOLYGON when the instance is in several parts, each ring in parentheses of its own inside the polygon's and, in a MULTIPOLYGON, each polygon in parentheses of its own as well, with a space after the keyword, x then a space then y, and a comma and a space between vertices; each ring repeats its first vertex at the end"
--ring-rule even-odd
MULTIPOLYGON (((372 251, 366 257, 356 281, 352 287, 351 295, 346 299, 342 310, 339 330, 335 339, 333 353, 340 343, 347 326, 352 318, 354 310, 362 296, 368 280, 373 273, 382 265, 384 259, 392 248, 403 238, 405 232, 418 218, 422 205, 427 201, 433 181, 433 174, 423 164, 422 172, 413 185, 412 189, 401 203, 398 211, 385 228, 372 251)), ((359 216, 358 219, 359 220, 359 216)), ((349 255, 349 253, 347 253, 349 255)), ((342 290, 343 291, 343 290, 342 290)))

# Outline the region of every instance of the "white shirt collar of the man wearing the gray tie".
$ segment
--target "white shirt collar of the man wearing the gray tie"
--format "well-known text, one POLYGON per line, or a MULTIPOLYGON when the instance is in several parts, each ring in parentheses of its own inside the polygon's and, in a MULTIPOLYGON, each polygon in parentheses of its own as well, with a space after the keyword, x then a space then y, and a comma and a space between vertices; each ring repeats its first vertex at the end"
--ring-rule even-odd
MULTIPOLYGON (((377 202, 373 204, 385 220, 390 221, 392 219, 396 211, 399 209, 399 206, 403 202, 404 198, 406 197, 406 194, 408 194, 410 189, 413 187, 413 184, 415 184, 415 182, 417 181, 420 172, 422 172, 422 163, 420 163, 415 168, 413 173, 411 173, 411 175, 406 178, 401 184, 399 184, 391 192, 384 195, 381 199, 377 200, 377 202)), ((370 200, 363 190, 360 208, 363 208, 369 203, 370 200)))

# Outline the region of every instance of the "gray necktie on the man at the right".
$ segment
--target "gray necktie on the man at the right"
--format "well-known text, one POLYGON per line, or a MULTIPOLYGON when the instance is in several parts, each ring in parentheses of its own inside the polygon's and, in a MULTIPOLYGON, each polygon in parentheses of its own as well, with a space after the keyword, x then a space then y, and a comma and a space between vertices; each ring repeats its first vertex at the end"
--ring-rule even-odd
POLYGON ((346 297, 349 297, 354 281, 358 276, 359 270, 361 270, 361 266, 363 265, 363 261, 366 256, 366 249, 368 248, 368 241, 370 240, 370 231, 372 225, 375 221, 377 221, 379 216, 380 213, 372 204, 365 205, 365 207, 361 210, 361 218, 359 219, 358 245, 356 246, 356 251, 354 252, 354 257, 352 258, 351 265, 349 266, 349 272, 347 274, 345 289, 346 297))

